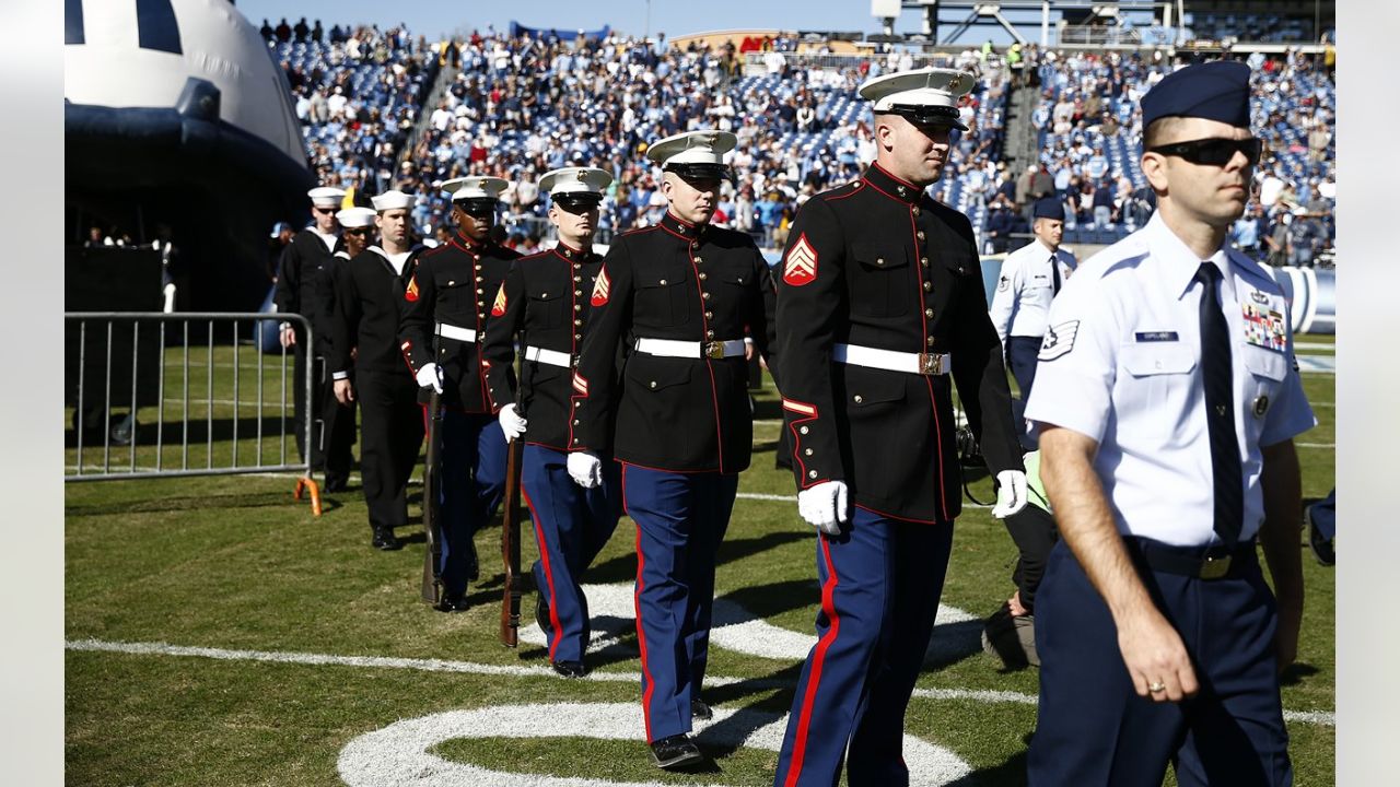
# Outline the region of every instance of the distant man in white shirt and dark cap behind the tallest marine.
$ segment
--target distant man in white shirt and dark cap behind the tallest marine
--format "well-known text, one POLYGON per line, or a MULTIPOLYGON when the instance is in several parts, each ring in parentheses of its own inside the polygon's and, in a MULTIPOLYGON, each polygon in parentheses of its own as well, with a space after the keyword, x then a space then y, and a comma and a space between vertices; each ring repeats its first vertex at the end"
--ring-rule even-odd
POLYGON ((991 323, 1005 347, 1022 402, 1030 396, 1036 379, 1036 354, 1046 335, 1050 302, 1077 265, 1070 249, 1060 246, 1064 204, 1057 199, 1039 200, 1032 216, 1035 239, 1007 255, 991 295, 991 323))

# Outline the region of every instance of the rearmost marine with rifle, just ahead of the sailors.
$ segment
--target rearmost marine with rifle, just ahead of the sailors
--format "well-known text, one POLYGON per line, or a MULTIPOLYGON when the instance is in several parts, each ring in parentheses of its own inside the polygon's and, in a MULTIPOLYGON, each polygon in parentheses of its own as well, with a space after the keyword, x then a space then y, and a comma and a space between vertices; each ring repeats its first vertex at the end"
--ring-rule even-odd
POLYGON ((466 609, 466 583, 476 580, 472 536, 496 513, 505 492, 505 437, 486 394, 480 344, 491 298, 519 255, 490 239, 498 199, 508 183, 472 175, 442 183, 452 196, 458 232, 419 258, 405 288, 399 323, 403 358, 427 403, 441 395, 442 436, 438 496, 442 598, 438 609, 466 609))

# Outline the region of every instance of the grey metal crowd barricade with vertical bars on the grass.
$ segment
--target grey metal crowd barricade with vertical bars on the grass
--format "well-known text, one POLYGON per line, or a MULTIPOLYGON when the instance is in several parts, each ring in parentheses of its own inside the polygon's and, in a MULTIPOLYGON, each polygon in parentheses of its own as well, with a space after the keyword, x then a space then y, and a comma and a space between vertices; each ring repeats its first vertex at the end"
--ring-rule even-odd
POLYGON ((64 314, 70 424, 63 480, 301 472, 294 496, 309 494, 321 515, 311 445, 314 382, 323 364, 308 357, 304 378, 295 379, 286 347, 263 353, 249 344, 249 333, 269 318, 301 325, 307 347, 315 346, 309 322, 298 314, 64 314), (305 406, 294 423, 298 385, 305 406), (122 409, 126 415, 115 417, 122 409), (143 423, 151 416, 154 423, 143 423), (307 447, 301 461, 297 431, 307 447))

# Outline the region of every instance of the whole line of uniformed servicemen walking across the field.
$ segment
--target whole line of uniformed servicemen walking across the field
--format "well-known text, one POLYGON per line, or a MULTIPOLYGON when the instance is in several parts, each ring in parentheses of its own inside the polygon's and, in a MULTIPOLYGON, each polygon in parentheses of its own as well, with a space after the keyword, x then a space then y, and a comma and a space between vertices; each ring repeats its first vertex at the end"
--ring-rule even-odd
POLYGON ((314 332, 286 325, 283 346, 298 368, 323 364, 297 402, 322 429, 298 445, 343 489, 358 406, 371 542, 396 549, 434 423, 440 483, 424 506, 441 534, 438 609, 459 612, 480 573, 473 535, 521 441, 535 619, 567 678, 588 674, 582 578, 626 511, 643 732, 658 767, 687 769, 706 762, 692 731, 713 717, 715 557, 750 462, 757 354, 820 584, 774 784, 907 784, 904 711, 962 508, 956 388, 997 482, 993 515, 1021 548, 1018 591, 984 641, 1040 665, 1030 783, 1155 786, 1175 763, 1183 784, 1288 784, 1292 438, 1315 420, 1284 294, 1226 242, 1260 155, 1249 67, 1190 66, 1152 88, 1142 169, 1158 213, 1077 263, 1058 246, 1063 213, 1037 207, 991 304, 969 218, 927 193, 972 88, 951 69, 861 85, 875 161, 802 206, 773 267, 748 234, 711 224, 734 176, 722 130, 648 147, 665 217, 605 255, 592 241, 612 175, 598 168, 542 179, 559 241, 531 256, 494 241, 498 178, 441 185, 456 232, 433 249, 410 235, 421 196, 339 210, 342 192, 312 189, 315 221, 277 293, 314 332))

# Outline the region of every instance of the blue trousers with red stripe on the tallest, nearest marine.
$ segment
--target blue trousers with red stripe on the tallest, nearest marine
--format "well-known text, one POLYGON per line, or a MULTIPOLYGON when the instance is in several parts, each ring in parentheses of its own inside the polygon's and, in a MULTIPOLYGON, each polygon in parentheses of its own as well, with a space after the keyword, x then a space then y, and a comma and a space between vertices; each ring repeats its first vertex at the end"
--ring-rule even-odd
POLYGON ((909 784, 904 710, 944 592, 952 525, 855 508, 839 536, 818 536, 816 646, 788 716, 777 787, 909 784))

